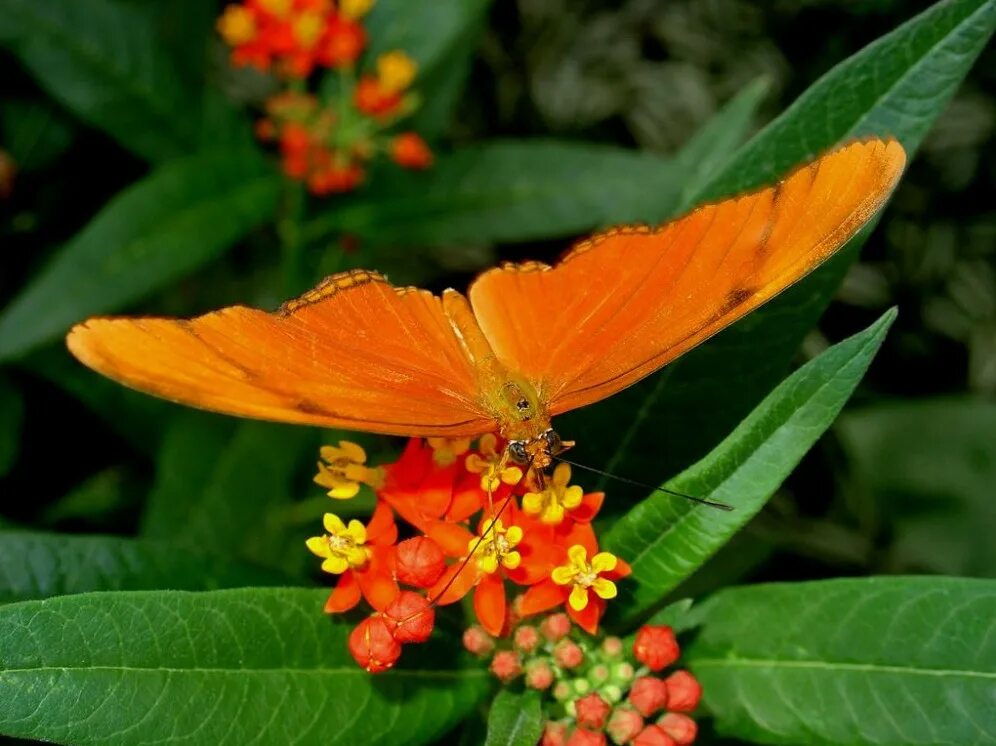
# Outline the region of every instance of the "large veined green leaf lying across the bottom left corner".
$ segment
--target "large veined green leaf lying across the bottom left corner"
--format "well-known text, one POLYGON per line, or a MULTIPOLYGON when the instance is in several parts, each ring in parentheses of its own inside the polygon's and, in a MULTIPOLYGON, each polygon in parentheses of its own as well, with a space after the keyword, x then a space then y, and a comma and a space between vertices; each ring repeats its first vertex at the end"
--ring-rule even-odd
POLYGON ((429 743, 489 674, 459 640, 372 676, 326 592, 119 592, 0 608, 0 732, 61 743, 429 743))

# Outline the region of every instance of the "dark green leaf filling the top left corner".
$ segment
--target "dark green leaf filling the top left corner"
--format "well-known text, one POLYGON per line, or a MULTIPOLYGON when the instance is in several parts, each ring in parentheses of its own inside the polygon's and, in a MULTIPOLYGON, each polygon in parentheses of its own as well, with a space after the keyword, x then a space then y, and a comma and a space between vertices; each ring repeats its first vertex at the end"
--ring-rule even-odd
POLYGON ((158 161, 193 150, 197 120, 151 21, 112 0, 6 0, 0 43, 63 106, 158 161))

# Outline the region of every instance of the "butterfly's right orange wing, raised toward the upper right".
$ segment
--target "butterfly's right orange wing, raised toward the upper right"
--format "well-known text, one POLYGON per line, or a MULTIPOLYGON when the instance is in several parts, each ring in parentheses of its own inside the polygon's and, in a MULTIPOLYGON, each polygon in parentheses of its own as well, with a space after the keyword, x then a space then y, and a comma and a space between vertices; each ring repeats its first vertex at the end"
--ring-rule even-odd
POLYGON ((597 235, 552 268, 489 270, 470 288, 474 313, 551 414, 590 404, 808 274, 881 207, 905 160, 895 141, 851 143, 658 229, 597 235))

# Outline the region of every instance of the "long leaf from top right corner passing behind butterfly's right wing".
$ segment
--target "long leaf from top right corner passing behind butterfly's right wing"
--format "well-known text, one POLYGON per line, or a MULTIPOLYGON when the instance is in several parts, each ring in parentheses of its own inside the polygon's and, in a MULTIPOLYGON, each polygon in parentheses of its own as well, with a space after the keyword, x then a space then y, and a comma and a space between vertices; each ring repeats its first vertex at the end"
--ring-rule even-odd
MULTIPOLYGON (((936 4, 828 72, 693 201, 770 183, 852 137, 892 135, 912 156, 994 25, 993 0, 936 4)), ((700 458, 784 376, 866 235, 663 374, 562 417, 562 434, 578 439, 577 460, 658 481, 700 458)))

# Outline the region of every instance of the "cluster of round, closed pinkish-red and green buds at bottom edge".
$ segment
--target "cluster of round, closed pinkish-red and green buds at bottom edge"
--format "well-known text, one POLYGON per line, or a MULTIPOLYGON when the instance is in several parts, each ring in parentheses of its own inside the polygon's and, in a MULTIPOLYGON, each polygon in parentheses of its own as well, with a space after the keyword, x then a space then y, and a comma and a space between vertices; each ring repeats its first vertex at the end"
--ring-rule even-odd
POLYGON ((566 614, 555 613, 539 624, 520 623, 508 641, 471 627, 464 646, 490 659, 491 672, 503 683, 521 678, 526 687, 551 695, 544 704, 541 746, 695 741, 698 728, 688 713, 698 706, 701 686, 684 670, 653 675, 678 660, 670 627, 641 627, 627 651, 618 637, 599 641, 579 634, 566 614))

